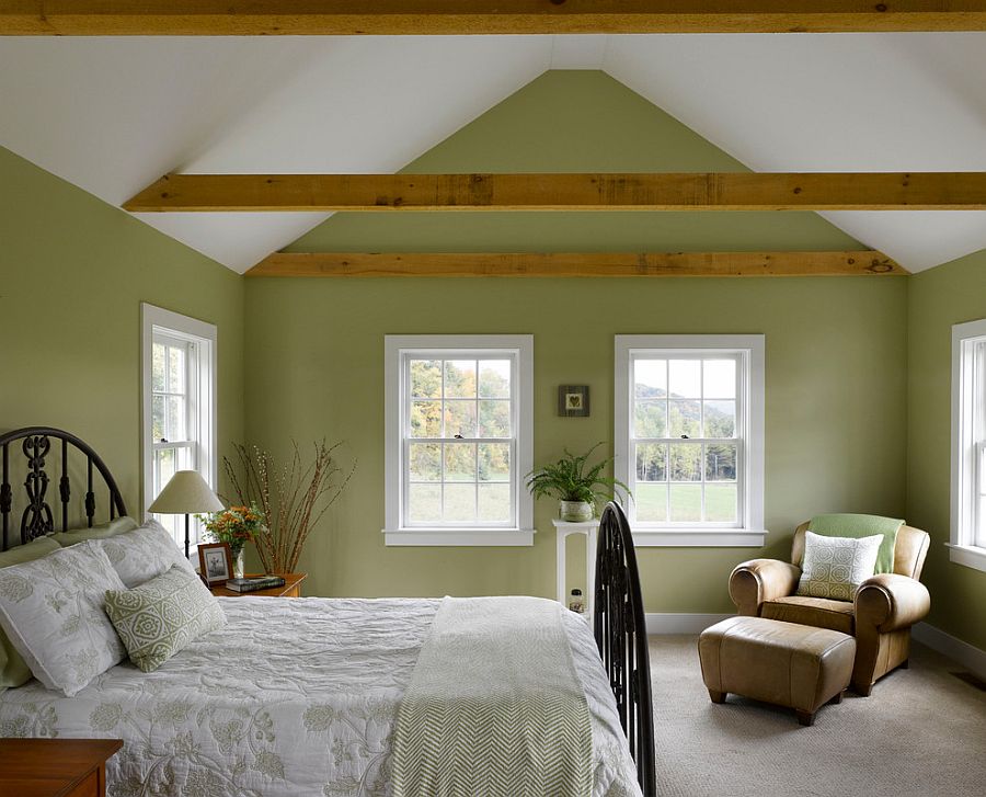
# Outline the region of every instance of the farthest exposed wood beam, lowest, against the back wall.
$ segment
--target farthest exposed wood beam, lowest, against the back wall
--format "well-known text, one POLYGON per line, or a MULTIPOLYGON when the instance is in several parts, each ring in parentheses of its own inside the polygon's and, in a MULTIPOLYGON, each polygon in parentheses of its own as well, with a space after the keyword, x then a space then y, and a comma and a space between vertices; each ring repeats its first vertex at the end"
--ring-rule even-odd
POLYGON ((907 270, 883 252, 277 252, 246 276, 865 276, 907 270))

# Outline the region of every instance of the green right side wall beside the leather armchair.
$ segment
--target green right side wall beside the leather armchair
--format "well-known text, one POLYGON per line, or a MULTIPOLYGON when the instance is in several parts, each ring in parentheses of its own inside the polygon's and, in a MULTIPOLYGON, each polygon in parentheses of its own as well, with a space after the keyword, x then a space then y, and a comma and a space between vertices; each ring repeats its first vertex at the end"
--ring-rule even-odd
POLYGON ((986 650, 986 573, 949 561, 952 325, 986 318, 986 251, 908 281, 907 520, 931 534, 928 622, 986 650))

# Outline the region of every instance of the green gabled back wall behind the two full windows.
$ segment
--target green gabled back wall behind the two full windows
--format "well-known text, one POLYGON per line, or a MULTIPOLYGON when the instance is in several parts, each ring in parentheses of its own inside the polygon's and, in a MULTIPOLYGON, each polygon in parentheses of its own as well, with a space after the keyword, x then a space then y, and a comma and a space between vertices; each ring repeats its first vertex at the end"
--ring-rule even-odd
MULTIPOLYGON (((742 166, 601 72, 547 72, 406 171, 687 171, 742 166)), ((814 214, 341 214, 294 251, 845 249, 814 214)), ((527 548, 383 546, 383 335, 532 333, 535 460, 607 441, 614 334, 767 335, 767 548, 640 553, 650 612, 727 612, 730 569, 787 556, 823 511, 904 509, 906 281, 246 281, 248 436, 343 439, 356 475, 302 567, 308 594, 554 594, 557 505, 527 548), (588 384, 588 419, 554 414, 559 384, 588 384)), ((570 574, 577 573, 575 562, 570 574)), ((571 585, 581 584, 581 580, 571 585)), ((584 584, 583 584, 584 585, 584 584)))

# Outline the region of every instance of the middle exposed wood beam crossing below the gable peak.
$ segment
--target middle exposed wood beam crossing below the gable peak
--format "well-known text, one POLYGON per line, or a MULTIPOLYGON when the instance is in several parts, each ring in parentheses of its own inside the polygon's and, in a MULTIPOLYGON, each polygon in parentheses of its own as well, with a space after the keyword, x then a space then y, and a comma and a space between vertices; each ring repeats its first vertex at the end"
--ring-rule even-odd
POLYGON ((983 210, 986 172, 170 174, 134 213, 225 210, 983 210))

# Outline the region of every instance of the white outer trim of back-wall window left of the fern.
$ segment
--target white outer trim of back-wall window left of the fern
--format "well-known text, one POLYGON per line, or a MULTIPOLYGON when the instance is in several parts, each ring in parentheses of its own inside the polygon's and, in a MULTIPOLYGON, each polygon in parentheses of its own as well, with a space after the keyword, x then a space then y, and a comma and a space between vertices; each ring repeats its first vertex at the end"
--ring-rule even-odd
POLYGON ((383 540, 388 546, 525 546, 534 545, 534 499, 523 477, 534 467, 534 335, 529 334, 413 334, 383 338, 385 476, 383 540), (401 353, 408 350, 504 350, 517 352, 517 526, 516 527, 401 527, 401 353))

